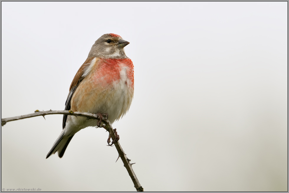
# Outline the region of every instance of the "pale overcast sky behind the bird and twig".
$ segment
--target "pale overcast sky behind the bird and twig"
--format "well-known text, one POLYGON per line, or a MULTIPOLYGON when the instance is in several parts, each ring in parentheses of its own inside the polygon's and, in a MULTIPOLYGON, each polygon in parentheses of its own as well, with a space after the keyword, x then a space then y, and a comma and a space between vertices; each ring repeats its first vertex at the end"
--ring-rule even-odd
MULTIPOLYGON (((1 2, 1 118, 63 110, 114 33, 134 99, 113 124, 145 191, 287 191, 288 2, 1 2)), ((1 128, 1 188, 135 191, 104 129, 45 159, 61 115, 1 128)))

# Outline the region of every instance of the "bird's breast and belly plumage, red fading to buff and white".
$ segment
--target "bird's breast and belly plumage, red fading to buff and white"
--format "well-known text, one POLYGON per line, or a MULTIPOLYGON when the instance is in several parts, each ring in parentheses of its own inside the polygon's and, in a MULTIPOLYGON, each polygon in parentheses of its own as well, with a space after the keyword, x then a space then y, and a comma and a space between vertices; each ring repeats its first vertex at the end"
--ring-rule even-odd
MULTIPOLYGON (((134 91, 131 59, 96 59, 71 99, 71 110, 108 113, 113 123, 127 112, 134 91)), ((82 124, 82 123, 81 123, 82 124)))

